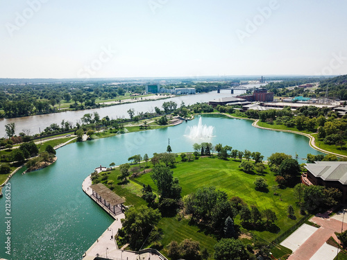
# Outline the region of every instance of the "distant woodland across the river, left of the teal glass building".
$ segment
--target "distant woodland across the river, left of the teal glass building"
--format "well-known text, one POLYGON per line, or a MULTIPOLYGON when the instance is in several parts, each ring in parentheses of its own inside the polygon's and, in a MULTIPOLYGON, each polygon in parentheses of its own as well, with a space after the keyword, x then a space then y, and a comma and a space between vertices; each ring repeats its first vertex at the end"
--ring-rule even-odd
POLYGON ((108 85, 100 80, 88 83, 48 83, 25 85, 0 85, 0 109, 8 118, 31 114, 51 113, 56 105, 69 103, 71 109, 81 110, 100 107, 96 99, 105 100, 124 96, 126 92, 144 94, 144 85, 108 85))

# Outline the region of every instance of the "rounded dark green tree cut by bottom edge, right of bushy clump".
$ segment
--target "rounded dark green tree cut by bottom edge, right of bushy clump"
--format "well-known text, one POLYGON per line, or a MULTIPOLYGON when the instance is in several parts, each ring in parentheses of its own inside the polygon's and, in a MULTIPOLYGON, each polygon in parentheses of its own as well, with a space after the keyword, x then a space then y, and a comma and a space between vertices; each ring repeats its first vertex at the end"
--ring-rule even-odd
POLYGON ((215 260, 246 260, 248 254, 239 239, 221 239, 214 245, 215 260))

